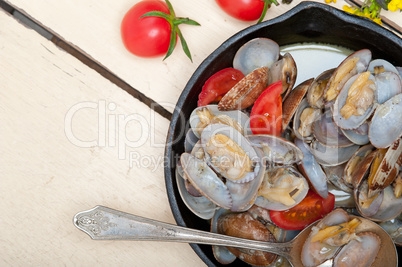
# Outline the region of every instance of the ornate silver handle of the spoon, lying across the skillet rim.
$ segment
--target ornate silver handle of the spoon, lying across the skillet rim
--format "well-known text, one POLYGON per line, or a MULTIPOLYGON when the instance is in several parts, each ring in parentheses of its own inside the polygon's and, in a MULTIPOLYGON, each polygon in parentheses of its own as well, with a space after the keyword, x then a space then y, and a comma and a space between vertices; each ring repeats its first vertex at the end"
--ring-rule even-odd
POLYGON ((173 241, 263 250, 288 256, 290 243, 268 243, 163 223, 103 206, 77 213, 75 226, 92 239, 173 241))

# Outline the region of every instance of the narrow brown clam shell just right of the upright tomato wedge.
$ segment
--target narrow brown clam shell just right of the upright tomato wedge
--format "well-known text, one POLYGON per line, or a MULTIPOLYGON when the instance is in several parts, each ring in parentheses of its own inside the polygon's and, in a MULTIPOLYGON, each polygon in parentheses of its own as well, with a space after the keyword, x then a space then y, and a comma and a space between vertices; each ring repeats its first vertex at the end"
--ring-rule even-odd
POLYGON ((282 130, 283 131, 288 127, 290 121, 293 118, 293 115, 295 114, 295 112, 297 110, 297 107, 303 100, 303 98, 306 95, 312 82, 313 82, 313 79, 309 79, 309 80, 299 84, 298 86, 296 86, 296 88, 294 88, 289 93, 289 95, 283 102, 283 105, 282 105, 282 110, 283 110, 282 130))

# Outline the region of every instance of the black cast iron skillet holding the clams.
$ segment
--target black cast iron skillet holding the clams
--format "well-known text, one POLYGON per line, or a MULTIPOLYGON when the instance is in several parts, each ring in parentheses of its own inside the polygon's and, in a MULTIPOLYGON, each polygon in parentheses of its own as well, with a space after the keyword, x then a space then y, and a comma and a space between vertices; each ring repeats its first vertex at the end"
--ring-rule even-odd
MULTIPOLYGON (((368 19, 356 17, 329 5, 302 2, 275 19, 251 26, 225 41, 198 67, 184 88, 173 113, 165 149, 165 182, 170 206, 178 225, 209 231, 209 224, 187 209, 179 195, 175 166, 183 153, 185 133, 191 111, 205 81, 215 72, 232 66, 241 45, 256 37, 267 37, 280 46, 301 42, 320 42, 360 50, 368 48, 373 58, 383 58, 402 66, 402 39, 368 19)), ((325 59, 324 59, 325 60, 325 59)), ((208 266, 219 266, 211 246, 191 244, 208 266)), ((399 251, 400 249, 398 249, 399 251)), ((237 260, 235 263, 242 263, 237 260)))

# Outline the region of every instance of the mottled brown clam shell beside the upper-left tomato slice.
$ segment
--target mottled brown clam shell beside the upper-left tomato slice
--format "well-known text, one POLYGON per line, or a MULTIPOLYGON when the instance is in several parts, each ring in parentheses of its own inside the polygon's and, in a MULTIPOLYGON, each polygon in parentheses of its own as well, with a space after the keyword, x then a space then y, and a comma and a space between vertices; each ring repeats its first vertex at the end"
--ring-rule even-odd
POLYGON ((218 103, 219 110, 245 109, 254 104, 268 85, 268 68, 252 71, 227 92, 218 103))

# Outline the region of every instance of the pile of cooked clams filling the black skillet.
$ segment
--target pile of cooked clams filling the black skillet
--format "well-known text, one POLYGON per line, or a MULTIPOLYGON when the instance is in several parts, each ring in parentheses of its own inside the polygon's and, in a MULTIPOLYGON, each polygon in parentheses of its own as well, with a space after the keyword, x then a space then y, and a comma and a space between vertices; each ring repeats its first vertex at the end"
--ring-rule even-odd
MULTIPOLYGON (((241 47, 233 67, 245 77, 217 105, 190 116, 176 168, 187 207, 211 220, 211 231, 283 242, 294 233, 275 226, 269 210, 294 207, 309 189, 323 198, 332 192, 335 206, 380 223, 401 245, 401 68, 372 60, 363 49, 293 88, 295 61, 266 38, 241 47), (279 80, 282 137, 253 135, 249 108, 279 80)), ((213 249, 224 264, 236 257, 260 266, 283 261, 270 253, 213 249)))

